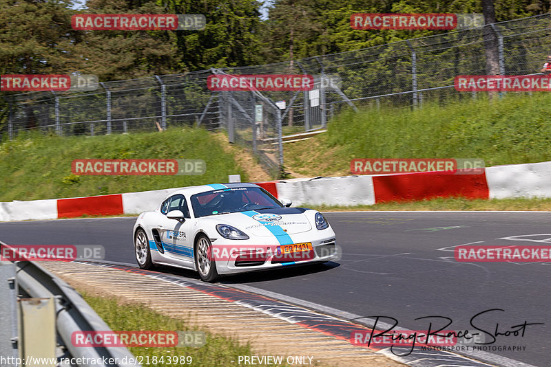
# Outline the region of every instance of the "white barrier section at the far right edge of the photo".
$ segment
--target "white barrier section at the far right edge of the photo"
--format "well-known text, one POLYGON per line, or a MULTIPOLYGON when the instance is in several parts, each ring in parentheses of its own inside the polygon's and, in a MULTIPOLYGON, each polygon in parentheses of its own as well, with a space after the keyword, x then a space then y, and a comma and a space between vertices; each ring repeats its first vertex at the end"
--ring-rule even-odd
POLYGON ((490 199, 551 197, 551 162, 486 168, 490 199))

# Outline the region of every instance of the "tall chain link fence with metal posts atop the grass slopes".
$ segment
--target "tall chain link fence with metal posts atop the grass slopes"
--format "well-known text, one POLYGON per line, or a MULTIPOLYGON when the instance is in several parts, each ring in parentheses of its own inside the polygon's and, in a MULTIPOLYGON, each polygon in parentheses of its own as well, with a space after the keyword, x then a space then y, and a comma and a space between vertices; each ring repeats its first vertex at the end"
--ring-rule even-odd
POLYGON ((94 92, 13 94, 5 97, 10 110, 2 133, 12 139, 26 130, 225 129, 230 142, 251 148, 276 175, 284 163, 282 135, 323 129, 343 108, 411 109, 476 98, 456 91, 453 80, 489 74, 488 43, 497 43, 499 74, 534 74, 551 54, 551 14, 284 63, 103 82, 94 92), (315 85, 310 91, 211 91, 213 74, 309 74, 315 85))

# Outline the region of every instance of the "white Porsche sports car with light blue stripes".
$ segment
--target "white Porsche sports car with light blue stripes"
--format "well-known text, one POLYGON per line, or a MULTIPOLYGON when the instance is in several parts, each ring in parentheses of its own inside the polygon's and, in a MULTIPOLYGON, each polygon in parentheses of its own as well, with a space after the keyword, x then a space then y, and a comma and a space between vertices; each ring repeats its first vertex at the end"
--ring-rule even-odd
POLYGON ((142 269, 183 267, 214 282, 222 274, 337 258, 324 216, 290 205, 253 183, 183 188, 136 219, 136 260, 142 269))

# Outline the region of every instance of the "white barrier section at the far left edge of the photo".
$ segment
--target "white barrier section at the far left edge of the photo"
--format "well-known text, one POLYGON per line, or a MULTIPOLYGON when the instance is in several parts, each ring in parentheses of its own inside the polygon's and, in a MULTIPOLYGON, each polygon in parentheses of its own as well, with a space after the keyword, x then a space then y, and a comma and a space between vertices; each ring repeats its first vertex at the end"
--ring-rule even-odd
POLYGON ((57 219, 57 199, 0 203, 0 221, 57 219))

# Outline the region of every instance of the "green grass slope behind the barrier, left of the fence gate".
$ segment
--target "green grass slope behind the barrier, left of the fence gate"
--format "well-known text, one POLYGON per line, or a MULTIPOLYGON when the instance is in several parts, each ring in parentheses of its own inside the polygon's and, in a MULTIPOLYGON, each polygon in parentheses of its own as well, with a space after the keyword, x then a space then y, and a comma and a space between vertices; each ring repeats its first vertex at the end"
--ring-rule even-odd
POLYGON ((94 137, 21 134, 0 145, 0 201, 55 199, 227 182, 247 174, 211 133, 174 129, 163 133, 94 137), (73 159, 203 159, 204 175, 76 176, 73 159))

